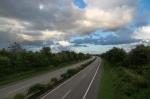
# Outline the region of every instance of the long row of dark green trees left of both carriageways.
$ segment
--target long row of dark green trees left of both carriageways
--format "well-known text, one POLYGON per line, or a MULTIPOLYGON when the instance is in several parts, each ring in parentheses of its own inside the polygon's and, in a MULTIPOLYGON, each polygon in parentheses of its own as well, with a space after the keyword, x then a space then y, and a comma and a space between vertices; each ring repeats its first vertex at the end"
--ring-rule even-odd
POLYGON ((51 53, 49 47, 43 47, 36 52, 27 51, 20 44, 14 43, 8 49, 0 50, 0 77, 48 66, 53 68, 87 58, 89 55, 73 51, 51 53))

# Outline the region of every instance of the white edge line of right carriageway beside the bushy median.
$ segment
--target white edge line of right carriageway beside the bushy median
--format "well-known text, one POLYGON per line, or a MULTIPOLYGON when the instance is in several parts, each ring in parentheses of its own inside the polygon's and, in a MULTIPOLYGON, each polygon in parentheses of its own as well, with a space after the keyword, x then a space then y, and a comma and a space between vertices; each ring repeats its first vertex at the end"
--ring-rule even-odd
MULTIPOLYGON (((94 61, 95 62, 95 61, 94 61)), ((92 62, 93 63, 93 62, 92 62)), ((89 66, 89 65, 88 65, 89 66)), ((87 66, 87 67, 88 67, 87 66)), ((86 67, 86 68, 87 68, 86 67)), ((84 71, 86 68, 84 68, 83 70, 81 70, 79 73, 75 74, 74 76, 72 76, 70 79, 68 79, 67 81, 65 81, 64 83, 60 84, 58 87, 56 87, 55 89, 53 89, 52 91, 50 91, 49 93, 47 93, 46 95, 44 95, 43 97, 41 97, 41 99, 45 99, 49 94, 53 93, 55 90, 59 89, 61 86, 63 86, 64 84, 66 84, 67 82, 71 81, 73 78, 75 78, 76 76, 78 76, 82 71, 84 71)))

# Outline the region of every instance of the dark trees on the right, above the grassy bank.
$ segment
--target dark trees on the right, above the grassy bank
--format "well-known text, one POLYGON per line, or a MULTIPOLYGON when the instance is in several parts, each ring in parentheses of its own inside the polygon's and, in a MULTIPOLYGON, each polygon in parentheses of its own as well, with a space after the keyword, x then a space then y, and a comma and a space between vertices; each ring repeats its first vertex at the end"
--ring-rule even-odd
POLYGON ((150 64, 150 46, 138 45, 128 53, 121 48, 114 47, 101 54, 101 57, 122 66, 135 67, 150 64))

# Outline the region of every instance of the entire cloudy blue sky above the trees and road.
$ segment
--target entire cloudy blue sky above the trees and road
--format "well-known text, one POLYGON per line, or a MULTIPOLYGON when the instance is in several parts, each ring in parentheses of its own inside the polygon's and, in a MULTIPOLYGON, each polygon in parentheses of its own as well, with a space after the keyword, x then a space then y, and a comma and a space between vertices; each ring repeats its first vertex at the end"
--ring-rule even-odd
POLYGON ((99 54, 150 45, 150 0, 1 0, 0 48, 99 54))

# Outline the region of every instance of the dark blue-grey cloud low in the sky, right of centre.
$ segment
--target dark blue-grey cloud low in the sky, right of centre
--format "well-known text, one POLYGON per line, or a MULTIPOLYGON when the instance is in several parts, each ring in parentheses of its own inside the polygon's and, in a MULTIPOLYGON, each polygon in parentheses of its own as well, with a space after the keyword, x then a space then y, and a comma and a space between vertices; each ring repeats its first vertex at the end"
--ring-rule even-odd
POLYGON ((94 45, 119 45, 139 42, 140 39, 132 38, 132 30, 121 28, 115 32, 96 31, 88 36, 72 40, 74 44, 94 44, 94 45))

